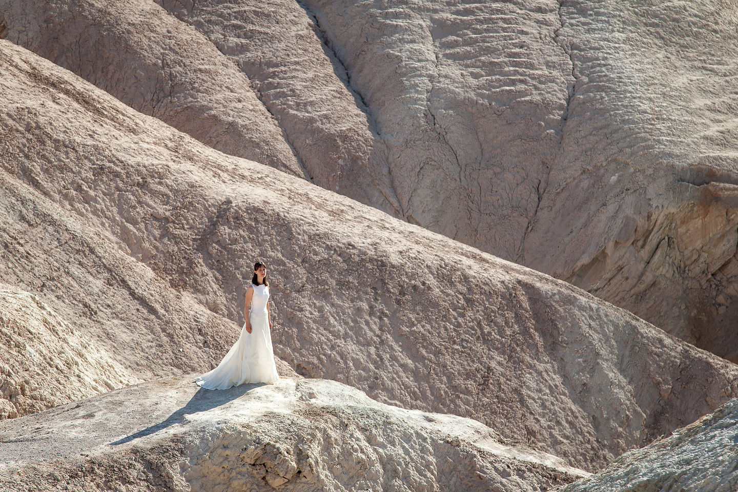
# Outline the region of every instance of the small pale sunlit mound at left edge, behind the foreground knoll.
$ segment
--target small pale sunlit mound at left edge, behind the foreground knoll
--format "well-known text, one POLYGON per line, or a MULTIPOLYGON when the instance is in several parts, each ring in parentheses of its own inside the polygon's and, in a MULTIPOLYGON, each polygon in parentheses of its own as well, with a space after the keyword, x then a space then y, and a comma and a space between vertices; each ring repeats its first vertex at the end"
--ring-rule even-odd
POLYGON ((137 382, 38 297, 0 283, 0 420, 137 382))

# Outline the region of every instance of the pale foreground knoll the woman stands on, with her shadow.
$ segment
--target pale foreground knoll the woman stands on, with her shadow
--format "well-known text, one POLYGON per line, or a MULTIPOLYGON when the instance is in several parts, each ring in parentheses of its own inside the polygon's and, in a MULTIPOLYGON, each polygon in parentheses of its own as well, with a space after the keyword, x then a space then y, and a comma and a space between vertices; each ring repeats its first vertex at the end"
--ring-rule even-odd
POLYGON ((3 491, 541 491, 588 474, 334 381, 169 378, 0 425, 3 491))

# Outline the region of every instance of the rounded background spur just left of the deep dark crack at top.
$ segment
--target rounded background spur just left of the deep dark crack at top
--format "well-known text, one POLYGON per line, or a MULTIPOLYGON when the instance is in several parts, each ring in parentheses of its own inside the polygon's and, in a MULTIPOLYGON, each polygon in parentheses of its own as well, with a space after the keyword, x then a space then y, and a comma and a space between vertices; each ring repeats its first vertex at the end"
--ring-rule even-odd
POLYGON ((314 183, 387 209, 387 155, 352 75, 294 0, 159 0, 252 81, 314 183), (379 184, 375 186, 372 183, 379 184))

